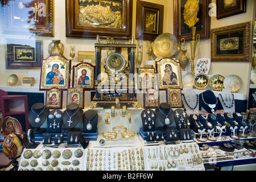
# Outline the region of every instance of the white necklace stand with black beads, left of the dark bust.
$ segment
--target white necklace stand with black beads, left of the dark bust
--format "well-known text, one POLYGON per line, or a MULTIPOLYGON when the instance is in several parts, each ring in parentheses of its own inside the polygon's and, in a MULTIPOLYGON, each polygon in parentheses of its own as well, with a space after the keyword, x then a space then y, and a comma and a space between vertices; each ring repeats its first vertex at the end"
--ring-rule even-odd
POLYGON ((199 95, 195 93, 194 89, 187 89, 183 94, 182 101, 187 114, 199 113, 199 95))

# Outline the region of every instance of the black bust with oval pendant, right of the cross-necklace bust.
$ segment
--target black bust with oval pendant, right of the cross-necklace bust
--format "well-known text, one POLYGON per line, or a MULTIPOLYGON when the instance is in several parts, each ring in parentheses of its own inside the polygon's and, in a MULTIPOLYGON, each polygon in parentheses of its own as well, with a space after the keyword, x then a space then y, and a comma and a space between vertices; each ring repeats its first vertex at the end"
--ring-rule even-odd
POLYGON ((94 110, 85 111, 82 115, 83 129, 84 133, 96 133, 97 123, 98 123, 98 113, 94 110), (90 123, 89 123, 90 121, 90 123), (90 126, 89 126, 90 125, 90 126), (91 127, 91 129, 90 129, 91 127))

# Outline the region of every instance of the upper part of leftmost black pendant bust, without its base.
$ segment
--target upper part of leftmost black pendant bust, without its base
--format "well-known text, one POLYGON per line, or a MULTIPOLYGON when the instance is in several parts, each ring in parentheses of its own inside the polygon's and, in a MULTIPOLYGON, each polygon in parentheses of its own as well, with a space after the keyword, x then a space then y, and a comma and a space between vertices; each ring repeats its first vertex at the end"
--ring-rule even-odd
POLYGON ((40 128, 46 121, 49 109, 43 103, 36 103, 32 105, 31 110, 28 112, 28 122, 33 128, 40 128))

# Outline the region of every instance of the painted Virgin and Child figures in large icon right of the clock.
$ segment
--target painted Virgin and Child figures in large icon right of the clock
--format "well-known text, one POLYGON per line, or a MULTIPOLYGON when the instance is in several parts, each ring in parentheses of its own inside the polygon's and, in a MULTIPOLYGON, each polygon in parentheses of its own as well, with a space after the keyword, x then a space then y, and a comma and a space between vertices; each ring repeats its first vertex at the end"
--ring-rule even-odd
POLYGON ((172 71, 171 64, 166 64, 163 76, 163 85, 177 85, 177 75, 172 71))

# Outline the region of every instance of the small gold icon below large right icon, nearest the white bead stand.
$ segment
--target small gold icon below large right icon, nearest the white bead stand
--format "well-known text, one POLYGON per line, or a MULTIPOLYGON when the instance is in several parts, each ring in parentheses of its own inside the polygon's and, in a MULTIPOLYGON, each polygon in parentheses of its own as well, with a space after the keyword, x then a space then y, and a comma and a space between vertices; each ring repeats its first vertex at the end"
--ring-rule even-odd
POLYGON ((166 102, 170 104, 172 108, 181 108, 181 89, 166 89, 166 102))

